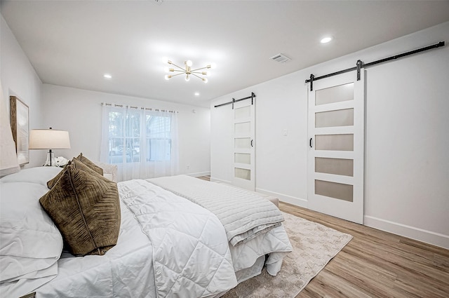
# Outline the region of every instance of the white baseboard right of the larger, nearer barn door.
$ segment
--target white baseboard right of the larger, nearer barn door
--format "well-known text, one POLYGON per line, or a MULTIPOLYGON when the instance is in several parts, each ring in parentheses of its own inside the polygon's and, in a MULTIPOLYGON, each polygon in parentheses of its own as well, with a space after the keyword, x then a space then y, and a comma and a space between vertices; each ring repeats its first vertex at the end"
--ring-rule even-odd
POLYGON ((363 225, 370 226, 375 229, 395 233, 396 235, 412 238, 417 241, 436 245, 449 250, 449 236, 441 233, 435 233, 415 226, 407 226, 406 224, 398 224, 385 219, 365 215, 363 217, 363 225))

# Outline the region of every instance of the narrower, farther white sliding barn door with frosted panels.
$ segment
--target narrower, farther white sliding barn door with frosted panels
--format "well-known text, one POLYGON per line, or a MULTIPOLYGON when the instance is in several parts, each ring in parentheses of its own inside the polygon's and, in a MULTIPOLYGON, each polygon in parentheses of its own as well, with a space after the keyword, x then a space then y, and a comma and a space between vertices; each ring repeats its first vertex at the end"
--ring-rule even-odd
POLYGON ((234 103, 232 184, 255 190, 255 101, 234 103))

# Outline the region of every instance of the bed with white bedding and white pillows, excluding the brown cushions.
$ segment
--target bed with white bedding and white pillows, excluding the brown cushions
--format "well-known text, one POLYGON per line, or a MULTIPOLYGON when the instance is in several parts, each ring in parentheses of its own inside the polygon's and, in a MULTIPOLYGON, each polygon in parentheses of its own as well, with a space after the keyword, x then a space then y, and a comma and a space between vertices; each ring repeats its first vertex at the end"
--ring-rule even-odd
POLYGON ((32 292, 39 298, 220 297, 264 266, 276 275, 292 250, 281 221, 273 220, 276 212, 267 207, 273 204, 265 198, 180 175, 117 183, 116 244, 102 255, 75 257, 39 203, 53 191, 47 182, 61 172, 29 168, 0 179, 1 297, 32 292), (189 191, 189 184, 196 191, 189 191), (208 198, 201 198, 201 192, 208 198), (225 199, 246 195, 264 206, 250 211, 254 218, 249 222, 244 222, 244 200, 225 199), (221 203, 214 207, 209 198, 221 203), (239 211, 229 215, 229 210, 239 211), (235 218, 235 213, 243 216, 235 218), (248 228, 260 220, 255 213, 268 214, 262 228, 248 228), (250 235, 248 229, 253 229, 250 235))

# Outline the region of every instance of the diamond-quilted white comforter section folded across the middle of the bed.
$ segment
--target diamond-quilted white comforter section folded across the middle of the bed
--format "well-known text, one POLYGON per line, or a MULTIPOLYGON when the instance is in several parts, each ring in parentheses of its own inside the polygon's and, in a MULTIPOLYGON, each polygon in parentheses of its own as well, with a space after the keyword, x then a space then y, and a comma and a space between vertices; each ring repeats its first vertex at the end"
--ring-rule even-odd
POLYGON ((225 229, 208 210, 145 180, 118 184, 153 246, 157 297, 214 297, 237 284, 225 229))

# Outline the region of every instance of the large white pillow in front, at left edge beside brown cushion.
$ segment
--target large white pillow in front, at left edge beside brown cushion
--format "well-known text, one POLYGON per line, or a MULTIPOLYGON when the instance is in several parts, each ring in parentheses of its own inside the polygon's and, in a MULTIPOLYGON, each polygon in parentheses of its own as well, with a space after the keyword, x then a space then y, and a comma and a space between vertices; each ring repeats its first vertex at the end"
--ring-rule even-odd
POLYGON ((47 269, 60 258, 61 233, 39 203, 47 191, 36 183, 0 184, 0 283, 47 269))

